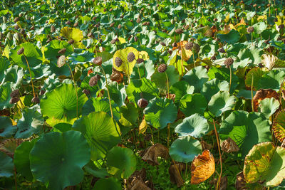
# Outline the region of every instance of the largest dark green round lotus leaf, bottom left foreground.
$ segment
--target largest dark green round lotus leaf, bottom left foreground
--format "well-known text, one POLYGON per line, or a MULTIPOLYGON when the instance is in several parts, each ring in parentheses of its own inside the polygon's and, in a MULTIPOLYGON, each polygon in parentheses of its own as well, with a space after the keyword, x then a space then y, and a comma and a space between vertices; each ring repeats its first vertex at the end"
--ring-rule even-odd
POLYGON ((31 172, 49 189, 64 189, 83 179, 90 147, 81 132, 49 132, 38 139, 30 153, 31 172))

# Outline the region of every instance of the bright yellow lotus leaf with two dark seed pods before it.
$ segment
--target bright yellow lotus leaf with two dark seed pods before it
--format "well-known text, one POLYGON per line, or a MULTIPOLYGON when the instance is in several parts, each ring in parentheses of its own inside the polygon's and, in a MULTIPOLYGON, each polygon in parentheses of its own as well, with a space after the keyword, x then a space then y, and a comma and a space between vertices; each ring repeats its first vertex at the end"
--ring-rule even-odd
POLYGON ((139 51, 133 47, 124 48, 115 52, 113 56, 113 67, 116 70, 123 71, 126 75, 131 75, 133 73, 133 68, 135 67, 136 59, 138 59, 139 51), (135 60, 133 62, 128 63, 127 56, 130 52, 135 54, 135 60), (115 65, 115 58, 120 58, 123 62, 120 67, 115 65))

